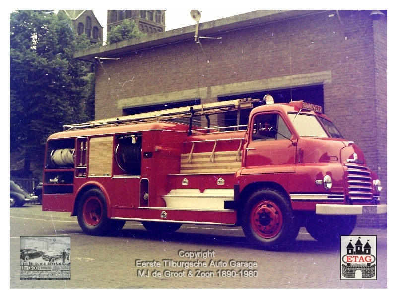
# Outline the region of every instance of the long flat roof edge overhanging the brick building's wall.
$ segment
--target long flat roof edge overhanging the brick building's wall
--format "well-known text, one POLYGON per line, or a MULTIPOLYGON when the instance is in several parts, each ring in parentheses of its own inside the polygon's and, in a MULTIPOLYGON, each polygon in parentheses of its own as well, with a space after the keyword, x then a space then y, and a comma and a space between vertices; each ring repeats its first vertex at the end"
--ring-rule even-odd
MULTIPOLYGON (((262 24, 279 22, 324 11, 325 10, 257 10, 201 23, 199 24, 199 33, 201 36, 206 37, 216 36, 230 30, 238 30, 262 24)), ((192 22, 194 21, 192 20, 192 22)), ((74 53, 74 58, 93 62, 95 57, 112 58, 121 54, 163 46, 170 43, 190 39, 193 41, 195 30, 196 24, 161 33, 150 34, 144 37, 124 40, 110 45, 76 52, 74 53)))

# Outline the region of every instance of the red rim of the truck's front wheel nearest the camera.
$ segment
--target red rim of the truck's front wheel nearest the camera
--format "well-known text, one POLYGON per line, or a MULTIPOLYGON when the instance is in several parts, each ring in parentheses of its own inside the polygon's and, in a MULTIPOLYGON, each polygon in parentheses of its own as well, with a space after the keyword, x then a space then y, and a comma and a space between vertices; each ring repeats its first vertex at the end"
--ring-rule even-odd
POLYGON ((280 208, 271 201, 257 203, 251 211, 251 226, 262 238, 269 239, 276 236, 282 226, 280 208))

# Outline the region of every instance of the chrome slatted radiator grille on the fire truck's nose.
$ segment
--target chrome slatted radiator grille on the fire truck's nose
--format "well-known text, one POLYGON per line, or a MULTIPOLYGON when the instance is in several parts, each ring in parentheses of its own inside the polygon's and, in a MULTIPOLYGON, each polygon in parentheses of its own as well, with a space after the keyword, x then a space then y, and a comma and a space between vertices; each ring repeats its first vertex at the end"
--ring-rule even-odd
POLYGON ((346 163, 349 198, 353 202, 372 200, 372 179, 366 166, 346 163))

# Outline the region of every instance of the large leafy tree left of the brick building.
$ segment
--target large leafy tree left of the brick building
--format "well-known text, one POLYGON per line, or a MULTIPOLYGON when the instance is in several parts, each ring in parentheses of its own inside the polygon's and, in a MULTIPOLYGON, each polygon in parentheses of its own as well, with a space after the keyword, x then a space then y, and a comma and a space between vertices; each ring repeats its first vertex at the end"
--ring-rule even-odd
POLYGON ((10 152, 42 167, 47 137, 62 125, 88 120, 87 64, 73 59, 86 47, 70 19, 50 10, 10 15, 10 152))

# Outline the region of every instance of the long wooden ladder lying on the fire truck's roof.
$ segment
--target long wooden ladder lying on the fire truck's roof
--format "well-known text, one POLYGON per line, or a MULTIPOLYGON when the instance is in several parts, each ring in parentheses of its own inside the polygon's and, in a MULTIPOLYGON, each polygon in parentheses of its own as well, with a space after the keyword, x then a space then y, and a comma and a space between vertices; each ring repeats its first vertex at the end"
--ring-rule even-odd
POLYGON ((109 118, 102 120, 94 120, 86 123, 78 124, 68 124, 64 125, 64 131, 72 129, 84 129, 93 128, 104 125, 119 125, 119 124, 134 124, 142 122, 157 122, 171 119, 181 119, 193 116, 204 116, 213 115, 219 113, 225 113, 230 111, 238 112, 238 122, 239 114, 241 109, 250 109, 253 107, 254 102, 259 102, 259 99, 244 98, 235 99, 221 102, 204 103, 199 105, 187 106, 182 108, 174 108, 162 111, 141 113, 136 115, 121 116, 117 118, 109 118))

